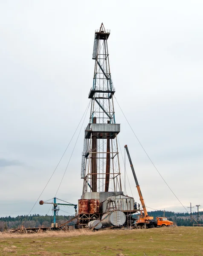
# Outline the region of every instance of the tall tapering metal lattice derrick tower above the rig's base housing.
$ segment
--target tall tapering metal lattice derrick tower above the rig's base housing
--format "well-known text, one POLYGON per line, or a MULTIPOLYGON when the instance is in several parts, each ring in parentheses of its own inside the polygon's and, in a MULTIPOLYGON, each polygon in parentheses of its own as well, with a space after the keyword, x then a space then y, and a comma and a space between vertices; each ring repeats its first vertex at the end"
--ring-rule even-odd
POLYGON ((96 30, 93 46, 95 60, 90 122, 85 129, 81 178, 85 192, 122 191, 116 124, 113 106, 115 88, 111 79, 107 39, 110 30, 103 23, 96 30))

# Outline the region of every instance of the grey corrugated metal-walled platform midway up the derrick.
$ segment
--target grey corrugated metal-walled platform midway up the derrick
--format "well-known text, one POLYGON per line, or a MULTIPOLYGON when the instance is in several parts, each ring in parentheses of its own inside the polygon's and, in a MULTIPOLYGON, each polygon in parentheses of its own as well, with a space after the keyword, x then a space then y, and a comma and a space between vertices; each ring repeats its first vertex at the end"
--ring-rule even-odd
POLYGON ((85 129, 85 138, 90 139, 91 133, 94 133, 98 139, 114 139, 120 132, 120 124, 88 124, 85 129))

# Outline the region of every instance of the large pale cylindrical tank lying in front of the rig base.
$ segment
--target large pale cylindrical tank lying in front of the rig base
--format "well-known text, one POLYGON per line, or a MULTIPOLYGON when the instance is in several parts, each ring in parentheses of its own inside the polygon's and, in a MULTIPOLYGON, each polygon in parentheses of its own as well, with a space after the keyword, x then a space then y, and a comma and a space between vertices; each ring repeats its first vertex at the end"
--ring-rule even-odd
POLYGON ((105 213, 102 216, 102 225, 104 226, 122 226, 125 223, 126 217, 125 213, 122 211, 113 211, 108 216, 108 213, 105 213), (107 217, 106 217, 107 216, 107 217))

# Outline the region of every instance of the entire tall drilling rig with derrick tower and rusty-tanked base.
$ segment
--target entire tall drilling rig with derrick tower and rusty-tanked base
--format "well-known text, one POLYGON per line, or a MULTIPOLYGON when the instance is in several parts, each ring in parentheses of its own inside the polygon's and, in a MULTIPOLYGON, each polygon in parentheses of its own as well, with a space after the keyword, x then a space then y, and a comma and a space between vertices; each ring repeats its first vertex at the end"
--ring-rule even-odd
MULTIPOLYGON (((78 225, 83 226, 95 219, 101 220, 107 212, 119 216, 122 221, 118 220, 118 226, 124 223, 131 225, 131 216, 137 211, 133 198, 122 192, 117 140, 120 124, 116 123, 113 104, 115 87, 110 73, 109 36, 110 30, 105 29, 103 23, 94 35, 93 86, 88 95, 91 110, 84 131, 81 160, 81 178, 84 181, 81 199, 78 200, 78 225)), ((112 221, 105 216, 103 222, 111 225, 112 221)))

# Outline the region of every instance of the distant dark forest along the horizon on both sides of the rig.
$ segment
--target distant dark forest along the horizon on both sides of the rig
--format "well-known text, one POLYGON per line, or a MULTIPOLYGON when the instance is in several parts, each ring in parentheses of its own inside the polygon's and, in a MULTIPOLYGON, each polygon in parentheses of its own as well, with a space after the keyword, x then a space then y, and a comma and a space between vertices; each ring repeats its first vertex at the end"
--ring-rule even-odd
MULTIPOLYGON (((162 217, 163 211, 148 212, 149 216, 162 217)), ((190 226, 190 214, 188 212, 167 212, 165 211, 165 217, 169 221, 173 221, 177 226, 190 226)), ((58 215, 57 222, 66 221, 70 216, 58 215)), ((53 222, 53 216, 50 215, 21 215, 17 217, 1 217, 0 218, 0 231, 4 231, 9 228, 16 228, 23 225, 24 227, 50 227, 53 222)), ((197 224, 197 212, 192 212, 192 224, 197 224)), ((203 212, 199 212, 199 224, 203 224, 203 212)), ((74 225, 70 223, 69 225, 74 225)))

